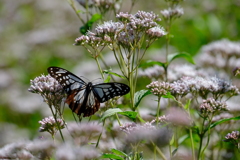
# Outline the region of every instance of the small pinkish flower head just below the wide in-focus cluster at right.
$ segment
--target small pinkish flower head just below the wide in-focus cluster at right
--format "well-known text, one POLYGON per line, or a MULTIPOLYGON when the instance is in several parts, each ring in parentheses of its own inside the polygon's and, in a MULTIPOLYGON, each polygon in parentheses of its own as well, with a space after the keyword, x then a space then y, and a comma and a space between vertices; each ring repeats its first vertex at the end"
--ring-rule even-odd
POLYGON ((225 102, 216 101, 213 98, 203 100, 200 106, 200 112, 203 117, 208 117, 219 111, 228 111, 227 104, 225 102))

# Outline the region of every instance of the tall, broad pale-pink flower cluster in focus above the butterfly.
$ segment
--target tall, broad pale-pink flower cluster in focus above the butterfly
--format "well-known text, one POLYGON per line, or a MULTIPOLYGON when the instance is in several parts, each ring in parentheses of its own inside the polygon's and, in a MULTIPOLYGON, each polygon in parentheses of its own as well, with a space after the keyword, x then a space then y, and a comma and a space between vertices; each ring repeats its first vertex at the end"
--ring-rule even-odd
POLYGON ((108 21, 98 25, 95 28, 95 34, 88 32, 86 36, 77 38, 75 45, 117 43, 130 47, 136 45, 144 34, 150 39, 166 35, 163 28, 157 24, 160 19, 153 12, 138 11, 135 15, 120 12, 116 17, 120 22, 108 21))

